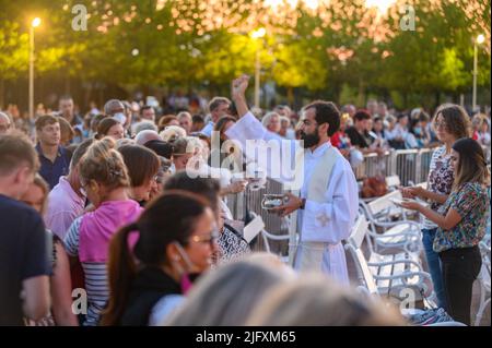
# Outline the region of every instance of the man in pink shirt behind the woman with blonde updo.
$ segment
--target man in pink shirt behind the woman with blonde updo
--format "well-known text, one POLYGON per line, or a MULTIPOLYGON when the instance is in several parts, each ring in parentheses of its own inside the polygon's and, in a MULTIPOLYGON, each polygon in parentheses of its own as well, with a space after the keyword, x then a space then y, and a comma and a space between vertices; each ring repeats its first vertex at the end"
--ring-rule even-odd
POLYGON ((45 214, 46 228, 61 240, 73 220, 84 212, 86 197, 81 190, 79 161, 92 143, 93 140, 90 139, 77 147, 70 163, 69 175, 60 177, 59 183, 48 195, 48 208, 45 214))

